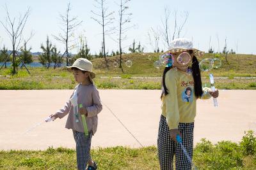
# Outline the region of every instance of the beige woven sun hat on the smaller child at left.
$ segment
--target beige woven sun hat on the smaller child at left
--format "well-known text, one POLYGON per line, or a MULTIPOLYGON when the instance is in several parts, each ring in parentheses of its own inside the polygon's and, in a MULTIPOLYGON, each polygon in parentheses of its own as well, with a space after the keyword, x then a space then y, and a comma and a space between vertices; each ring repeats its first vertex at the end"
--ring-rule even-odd
POLYGON ((67 68, 75 67, 81 71, 88 71, 90 73, 90 78, 95 78, 95 73, 92 71, 92 62, 88 59, 79 58, 77 59, 72 66, 67 66, 67 68))

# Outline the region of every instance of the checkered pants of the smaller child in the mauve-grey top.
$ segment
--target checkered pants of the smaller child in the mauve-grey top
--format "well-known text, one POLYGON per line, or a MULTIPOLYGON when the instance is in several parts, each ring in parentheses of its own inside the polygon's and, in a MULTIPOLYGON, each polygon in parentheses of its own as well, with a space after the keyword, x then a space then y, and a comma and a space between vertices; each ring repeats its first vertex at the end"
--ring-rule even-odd
POLYGON ((89 132, 88 136, 85 136, 82 132, 77 132, 73 130, 73 136, 76 141, 76 161, 77 169, 86 169, 87 162, 91 158, 90 148, 92 141, 92 131, 89 132))

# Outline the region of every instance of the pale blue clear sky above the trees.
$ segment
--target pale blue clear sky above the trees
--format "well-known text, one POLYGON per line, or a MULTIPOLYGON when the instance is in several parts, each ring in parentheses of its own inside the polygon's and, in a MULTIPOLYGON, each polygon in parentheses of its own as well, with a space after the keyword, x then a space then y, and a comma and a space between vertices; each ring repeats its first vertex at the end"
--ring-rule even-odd
MULTIPOLYGON (((35 34, 28 43, 28 46, 32 48, 31 52, 42 52, 40 45, 42 43, 45 45, 48 35, 52 44, 56 45, 58 50, 63 53, 65 52, 65 45, 54 39, 53 35, 57 36, 61 32, 60 14, 65 14, 68 3, 71 4, 70 15, 77 16, 77 20, 83 20, 82 24, 77 27, 74 38, 83 34, 86 37, 90 53, 99 53, 102 42, 102 27, 91 18, 95 17, 92 10, 97 11, 93 6, 95 4, 93 0, 0 0, 0 20, 5 23, 5 6, 8 7, 10 17, 16 17, 16 19, 19 18, 20 13, 23 14, 28 8, 31 8, 23 34, 24 39, 29 37, 31 31, 35 34)), ((108 11, 115 11, 113 26, 117 26, 118 23, 118 3, 120 3, 120 0, 106 0, 108 11)), ((125 32, 127 39, 122 42, 122 48, 125 52, 128 52, 133 39, 136 43, 140 41, 145 52, 154 51, 148 38, 150 28, 158 30, 160 50, 168 50, 164 46, 163 37, 161 36, 164 8, 168 8, 171 12, 168 24, 171 34, 174 27, 174 11, 177 11, 178 14, 178 24, 184 19, 182 13, 184 11, 189 13, 180 38, 191 39, 194 48, 207 52, 209 46, 212 46, 214 51, 222 51, 225 46, 225 39, 227 39, 228 50, 232 48, 236 53, 256 53, 256 1, 131 0, 127 6, 129 6, 127 11, 132 13, 129 24, 133 27, 125 32)), ((116 34, 106 36, 106 50, 109 53, 112 50, 118 50, 118 43, 113 40, 117 38, 116 34)), ((0 24, 0 48, 3 48, 3 46, 10 49, 11 40, 3 25, 0 24)), ((74 48, 72 53, 77 53, 77 48, 74 48)))

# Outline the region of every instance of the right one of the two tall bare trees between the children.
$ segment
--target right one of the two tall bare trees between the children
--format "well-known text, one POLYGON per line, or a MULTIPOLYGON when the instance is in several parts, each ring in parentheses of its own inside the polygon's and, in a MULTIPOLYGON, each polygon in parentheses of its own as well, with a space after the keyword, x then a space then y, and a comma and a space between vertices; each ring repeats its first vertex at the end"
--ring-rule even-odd
MULTIPOLYGON (((122 67, 122 42, 127 39, 127 36, 124 35, 125 32, 127 32, 129 29, 131 29, 132 26, 125 27, 129 22, 131 22, 130 16, 132 13, 127 13, 127 10, 129 7, 127 6, 127 3, 129 3, 131 0, 120 0, 119 11, 118 11, 118 44, 119 44, 119 67, 124 72, 124 69, 122 67)), ((117 54, 116 54, 117 55, 117 54)))

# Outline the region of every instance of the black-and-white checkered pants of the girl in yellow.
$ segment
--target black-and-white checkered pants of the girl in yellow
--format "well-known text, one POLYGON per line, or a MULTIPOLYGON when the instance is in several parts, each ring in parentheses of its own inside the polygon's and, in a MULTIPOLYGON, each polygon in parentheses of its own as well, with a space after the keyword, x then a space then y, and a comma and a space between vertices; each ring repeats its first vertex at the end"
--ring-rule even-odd
MULTIPOLYGON (((182 135, 182 145, 186 148, 188 155, 193 155, 193 130, 194 123, 180 123, 179 131, 182 135)), ((161 115, 159 122, 159 131, 157 138, 158 157, 161 170, 173 169, 173 156, 175 155, 176 169, 191 169, 191 164, 183 153, 179 143, 176 143, 170 137, 170 130, 166 118, 161 115)))

